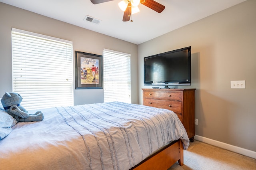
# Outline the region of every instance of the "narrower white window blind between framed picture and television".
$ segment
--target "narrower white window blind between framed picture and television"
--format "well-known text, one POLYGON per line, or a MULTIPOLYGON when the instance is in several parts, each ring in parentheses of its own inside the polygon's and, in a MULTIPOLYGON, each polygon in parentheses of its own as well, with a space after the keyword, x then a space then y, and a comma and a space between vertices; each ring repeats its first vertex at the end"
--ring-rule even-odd
POLYGON ((131 103, 130 54, 104 49, 104 102, 131 103))

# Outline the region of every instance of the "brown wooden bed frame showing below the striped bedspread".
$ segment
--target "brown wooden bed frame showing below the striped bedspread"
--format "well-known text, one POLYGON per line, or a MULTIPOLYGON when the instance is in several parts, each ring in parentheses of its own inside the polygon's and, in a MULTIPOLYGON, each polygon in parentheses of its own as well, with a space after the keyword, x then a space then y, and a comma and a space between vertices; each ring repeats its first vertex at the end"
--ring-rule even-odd
POLYGON ((167 170, 177 161, 180 166, 183 165, 183 142, 180 139, 168 144, 162 150, 131 168, 131 170, 167 170))

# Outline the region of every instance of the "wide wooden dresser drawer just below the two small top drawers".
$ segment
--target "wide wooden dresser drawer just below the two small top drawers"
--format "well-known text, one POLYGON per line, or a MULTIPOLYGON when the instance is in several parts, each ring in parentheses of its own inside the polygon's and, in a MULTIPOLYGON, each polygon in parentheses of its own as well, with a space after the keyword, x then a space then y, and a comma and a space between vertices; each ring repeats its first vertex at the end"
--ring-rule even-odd
POLYGON ((169 109, 175 113, 182 113, 182 104, 180 101, 167 101, 167 100, 158 100, 158 99, 143 99, 143 105, 152 106, 162 109, 169 109))

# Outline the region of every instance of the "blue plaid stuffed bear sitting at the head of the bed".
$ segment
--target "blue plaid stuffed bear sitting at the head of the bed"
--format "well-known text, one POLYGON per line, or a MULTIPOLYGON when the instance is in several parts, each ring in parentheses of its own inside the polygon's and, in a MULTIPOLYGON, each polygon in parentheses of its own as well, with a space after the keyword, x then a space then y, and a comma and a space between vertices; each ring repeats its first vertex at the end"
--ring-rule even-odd
POLYGON ((42 121, 44 115, 41 111, 28 114, 28 111, 20 105, 22 97, 18 93, 6 92, 1 99, 4 110, 19 122, 42 121))

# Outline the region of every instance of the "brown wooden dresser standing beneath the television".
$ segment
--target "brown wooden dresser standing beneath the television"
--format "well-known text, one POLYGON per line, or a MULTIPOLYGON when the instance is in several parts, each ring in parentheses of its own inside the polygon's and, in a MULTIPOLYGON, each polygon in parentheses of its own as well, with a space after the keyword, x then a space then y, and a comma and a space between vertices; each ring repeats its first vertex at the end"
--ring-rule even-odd
POLYGON ((184 125, 190 141, 195 135, 196 89, 142 89, 143 105, 174 111, 184 125))

